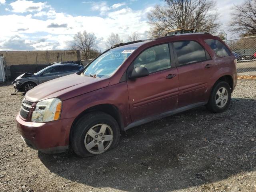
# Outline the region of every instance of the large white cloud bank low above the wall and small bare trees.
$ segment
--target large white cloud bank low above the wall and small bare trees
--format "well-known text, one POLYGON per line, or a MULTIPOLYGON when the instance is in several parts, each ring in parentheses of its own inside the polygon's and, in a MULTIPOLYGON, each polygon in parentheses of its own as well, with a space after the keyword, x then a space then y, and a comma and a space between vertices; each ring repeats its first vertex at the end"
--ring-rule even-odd
POLYGON ((110 10, 104 17, 72 16, 49 9, 26 16, 0 15, 1 25, 5 29, 0 30, 0 49, 68 49, 74 34, 83 30, 95 33, 98 38, 98 48, 102 51, 111 32, 120 34, 124 40, 134 31, 138 32, 142 39, 147 38, 150 26, 147 23, 146 14, 150 8, 139 11, 131 8, 114 12, 109 12, 110 10), (13 36, 16 36, 16 39, 10 38, 13 36), (15 43, 12 43, 13 41, 15 43), (23 46, 18 46, 18 42, 23 46))

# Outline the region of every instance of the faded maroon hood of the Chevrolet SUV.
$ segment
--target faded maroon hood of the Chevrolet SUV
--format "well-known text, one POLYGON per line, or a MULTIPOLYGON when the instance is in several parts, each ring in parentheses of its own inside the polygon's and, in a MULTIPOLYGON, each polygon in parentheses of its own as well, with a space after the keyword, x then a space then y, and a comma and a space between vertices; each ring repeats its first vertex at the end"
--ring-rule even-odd
POLYGON ((104 88, 108 86, 109 82, 110 79, 106 78, 93 78, 71 74, 39 84, 26 93, 25 99, 31 102, 38 102, 53 97, 67 100, 104 88))

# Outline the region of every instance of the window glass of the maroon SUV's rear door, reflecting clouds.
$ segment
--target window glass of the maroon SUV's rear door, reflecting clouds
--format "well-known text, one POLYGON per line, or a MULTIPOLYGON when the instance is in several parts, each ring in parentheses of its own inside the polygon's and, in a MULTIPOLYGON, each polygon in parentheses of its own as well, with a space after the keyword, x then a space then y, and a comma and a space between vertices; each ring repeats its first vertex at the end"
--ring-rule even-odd
POLYGON ((195 41, 180 41, 173 43, 179 65, 207 60, 204 48, 195 41))

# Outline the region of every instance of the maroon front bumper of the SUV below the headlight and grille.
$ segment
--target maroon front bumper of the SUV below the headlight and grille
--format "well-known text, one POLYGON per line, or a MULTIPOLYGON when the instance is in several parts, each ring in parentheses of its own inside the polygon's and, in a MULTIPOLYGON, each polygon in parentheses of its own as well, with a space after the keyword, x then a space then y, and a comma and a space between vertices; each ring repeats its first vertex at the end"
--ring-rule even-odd
POLYGON ((74 118, 51 122, 27 122, 16 116, 16 128, 24 142, 44 153, 59 153, 68 150, 69 133, 74 118))

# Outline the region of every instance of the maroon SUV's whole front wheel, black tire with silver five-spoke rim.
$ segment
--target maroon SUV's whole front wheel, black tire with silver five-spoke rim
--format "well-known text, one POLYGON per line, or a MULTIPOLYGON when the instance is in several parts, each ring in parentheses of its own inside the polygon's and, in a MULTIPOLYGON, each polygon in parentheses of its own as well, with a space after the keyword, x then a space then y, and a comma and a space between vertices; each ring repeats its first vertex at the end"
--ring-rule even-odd
POLYGON ((120 138, 116 120, 104 112, 91 112, 82 116, 72 128, 71 146, 81 157, 102 154, 115 148, 120 138))

